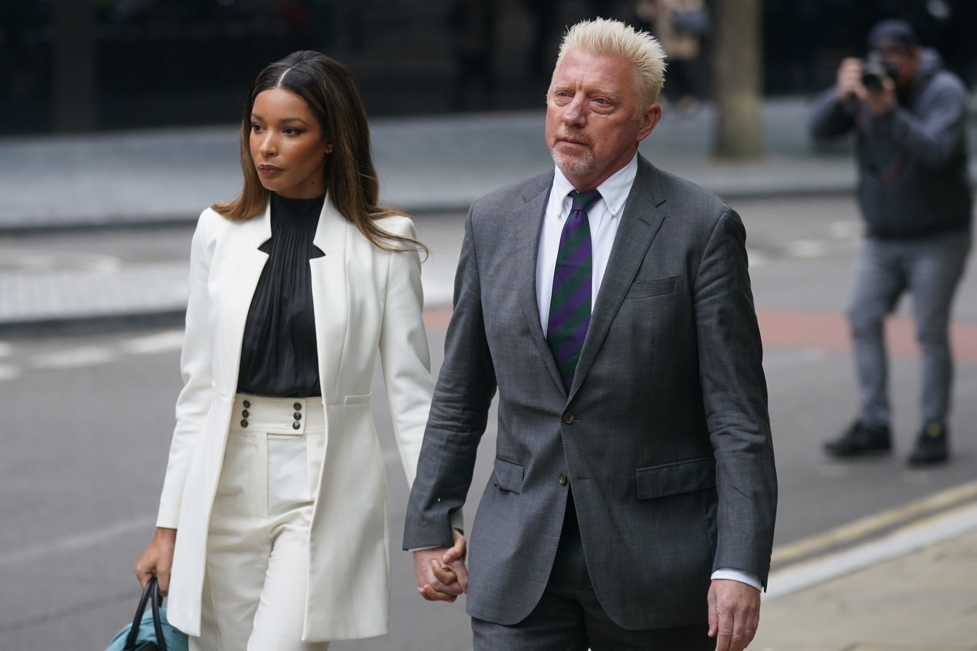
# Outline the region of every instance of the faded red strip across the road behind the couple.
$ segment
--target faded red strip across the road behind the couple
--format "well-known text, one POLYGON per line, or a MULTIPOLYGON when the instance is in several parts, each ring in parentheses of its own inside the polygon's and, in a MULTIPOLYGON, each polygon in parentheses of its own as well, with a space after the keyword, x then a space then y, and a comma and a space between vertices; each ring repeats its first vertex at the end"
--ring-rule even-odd
MULTIPOLYGON (((843 314, 762 309, 757 311, 756 317, 764 347, 851 352, 851 333, 843 314)), ((424 312, 424 325, 428 328, 444 330, 450 319, 450 307, 424 312)), ((950 327, 950 337, 957 361, 977 362, 977 322, 954 322, 950 327)), ((885 323, 885 339, 892 355, 919 355, 912 319, 889 317, 885 323)))

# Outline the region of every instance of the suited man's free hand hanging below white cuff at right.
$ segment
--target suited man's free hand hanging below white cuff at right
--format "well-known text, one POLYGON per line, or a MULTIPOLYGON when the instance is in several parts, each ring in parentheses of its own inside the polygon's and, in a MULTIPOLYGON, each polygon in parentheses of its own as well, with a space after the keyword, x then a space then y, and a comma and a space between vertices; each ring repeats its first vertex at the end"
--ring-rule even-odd
POLYGON ((716 651, 743 651, 760 623, 760 590, 732 579, 709 586, 709 637, 716 651))

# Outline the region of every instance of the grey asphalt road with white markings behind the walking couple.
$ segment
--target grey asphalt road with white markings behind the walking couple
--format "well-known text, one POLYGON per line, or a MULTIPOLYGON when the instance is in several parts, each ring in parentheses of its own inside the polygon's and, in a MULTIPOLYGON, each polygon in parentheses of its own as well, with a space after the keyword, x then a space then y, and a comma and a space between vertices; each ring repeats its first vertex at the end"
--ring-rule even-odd
MULTIPOLYGON (((750 199, 734 207, 747 228, 758 310, 801 321, 843 313, 860 233, 850 197, 750 199)), ((443 297, 450 286, 463 218, 417 216, 419 235, 434 252, 425 265, 426 286, 439 290, 432 296, 443 297)), ((4 235, 0 264, 175 262, 187 259, 190 237, 186 226, 4 235)), ((905 303, 900 312, 908 309, 905 303)), ((956 317, 977 321, 972 266, 956 317)), ((431 305, 428 322, 437 371, 444 305, 431 305)), ((181 385, 179 342, 170 326, 27 333, 0 343, 0 649, 97 651, 131 619, 139 593, 131 568, 152 533, 181 385)), ((953 463, 923 470, 904 463, 918 426, 912 354, 896 357, 891 368, 897 453, 850 463, 829 461, 821 450, 855 414, 857 387, 843 346, 768 345, 765 368, 781 489, 778 545, 973 478, 977 364, 956 368, 953 463)), ((382 381, 376 384, 374 393, 382 395, 382 381)), ((374 417, 389 470, 395 543, 391 632, 331 648, 470 649, 463 600, 431 604, 413 590, 409 554, 399 550, 406 483, 383 400, 374 402, 374 417)), ((493 446, 490 420, 469 518, 488 481, 493 446)))

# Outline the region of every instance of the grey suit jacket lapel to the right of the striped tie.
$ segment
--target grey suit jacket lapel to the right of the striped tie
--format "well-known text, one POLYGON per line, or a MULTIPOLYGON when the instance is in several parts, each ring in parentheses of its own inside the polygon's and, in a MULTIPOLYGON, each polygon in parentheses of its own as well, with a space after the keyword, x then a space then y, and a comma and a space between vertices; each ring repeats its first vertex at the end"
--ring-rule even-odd
POLYGON ((658 170, 643 156, 638 156, 638 174, 627 196, 620 224, 617 226, 611 258, 608 260, 604 280, 601 281, 600 291, 597 294, 597 302, 590 317, 590 327, 583 340, 583 348, 580 350, 580 359, 576 364, 568 401, 573 399, 573 395, 590 371, 590 366, 594 363, 601 345, 604 344, 608 330, 611 329, 617 309, 624 300, 624 295, 627 294, 631 281, 634 280, 638 267, 644 262, 648 247, 652 245, 652 240, 655 239, 658 228, 664 220, 664 211, 658 209, 665 200, 661 193, 659 174, 658 170))

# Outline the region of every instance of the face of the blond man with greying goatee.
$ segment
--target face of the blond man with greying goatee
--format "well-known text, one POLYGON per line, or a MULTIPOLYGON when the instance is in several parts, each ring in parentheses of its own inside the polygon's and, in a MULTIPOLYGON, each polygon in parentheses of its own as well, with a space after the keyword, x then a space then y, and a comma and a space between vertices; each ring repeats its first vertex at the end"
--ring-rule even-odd
POLYGON ((600 177, 622 158, 630 160, 661 115, 658 104, 639 106, 636 86, 630 61, 567 53, 546 102, 546 144, 561 170, 600 177))

